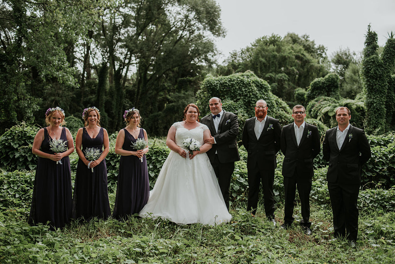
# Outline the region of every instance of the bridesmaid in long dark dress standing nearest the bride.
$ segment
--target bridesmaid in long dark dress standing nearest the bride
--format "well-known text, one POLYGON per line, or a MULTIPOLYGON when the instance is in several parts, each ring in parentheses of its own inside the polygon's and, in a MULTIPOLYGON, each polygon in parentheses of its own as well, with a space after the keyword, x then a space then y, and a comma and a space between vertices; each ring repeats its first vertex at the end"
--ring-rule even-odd
POLYGON ((149 180, 145 149, 132 147, 137 138, 148 141, 147 132, 140 128, 140 113, 134 107, 124 113, 126 127, 121 129, 115 143, 115 153, 121 155, 117 183, 117 196, 113 217, 121 220, 134 215, 147 204, 149 198, 149 180), (143 162, 140 158, 143 158, 143 162))

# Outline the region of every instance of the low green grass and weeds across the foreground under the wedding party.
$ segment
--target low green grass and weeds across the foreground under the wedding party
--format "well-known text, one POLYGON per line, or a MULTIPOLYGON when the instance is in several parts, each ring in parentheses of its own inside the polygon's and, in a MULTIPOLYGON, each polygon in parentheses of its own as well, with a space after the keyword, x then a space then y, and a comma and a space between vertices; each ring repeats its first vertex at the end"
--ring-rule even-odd
MULTIPOLYGON (((110 194, 113 208, 115 193, 110 194)), ((245 204, 231 206, 230 223, 218 226, 177 225, 131 217, 78 223, 51 232, 29 226, 28 209, 0 212, 0 263, 394 263, 394 212, 364 208, 359 216, 357 247, 330 241, 332 214, 327 205, 311 205, 313 235, 295 224, 280 229, 283 207, 277 204, 277 226, 265 219, 260 204, 256 218, 245 204)))

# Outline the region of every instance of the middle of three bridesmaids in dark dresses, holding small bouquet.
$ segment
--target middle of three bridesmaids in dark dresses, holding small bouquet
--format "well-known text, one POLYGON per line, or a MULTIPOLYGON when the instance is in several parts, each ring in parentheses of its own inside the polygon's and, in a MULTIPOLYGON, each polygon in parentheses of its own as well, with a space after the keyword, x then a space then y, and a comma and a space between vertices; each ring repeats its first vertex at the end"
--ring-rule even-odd
POLYGON ((108 134, 107 130, 100 127, 100 111, 96 107, 85 108, 82 119, 85 127, 80 128, 75 137, 79 160, 75 174, 73 218, 82 217, 85 221, 90 221, 92 217, 107 219, 111 215, 107 192, 107 166, 104 159, 110 149, 108 134), (100 157, 87 160, 84 151, 92 148, 101 153, 98 154, 100 157))

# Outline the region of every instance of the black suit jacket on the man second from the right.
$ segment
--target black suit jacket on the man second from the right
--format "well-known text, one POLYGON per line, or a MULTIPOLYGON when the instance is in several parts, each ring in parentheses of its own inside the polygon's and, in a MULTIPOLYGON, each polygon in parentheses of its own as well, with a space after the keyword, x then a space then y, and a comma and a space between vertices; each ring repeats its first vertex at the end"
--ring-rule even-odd
POLYGON ((305 123, 302 138, 297 145, 293 124, 283 126, 281 131, 281 151, 284 154, 282 175, 284 177, 313 177, 313 160, 320 153, 318 128, 305 123))

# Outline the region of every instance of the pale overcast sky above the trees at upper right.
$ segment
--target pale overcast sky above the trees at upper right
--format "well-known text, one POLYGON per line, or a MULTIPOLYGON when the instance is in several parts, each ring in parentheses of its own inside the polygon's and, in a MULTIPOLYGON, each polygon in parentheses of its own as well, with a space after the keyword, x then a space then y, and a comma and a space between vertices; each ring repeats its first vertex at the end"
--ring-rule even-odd
POLYGON ((395 0, 216 0, 221 7, 225 38, 216 45, 222 62, 233 50, 250 45, 272 33, 308 34, 310 40, 327 48, 327 55, 349 47, 362 51, 367 26, 384 45, 388 32, 395 32, 395 0))

